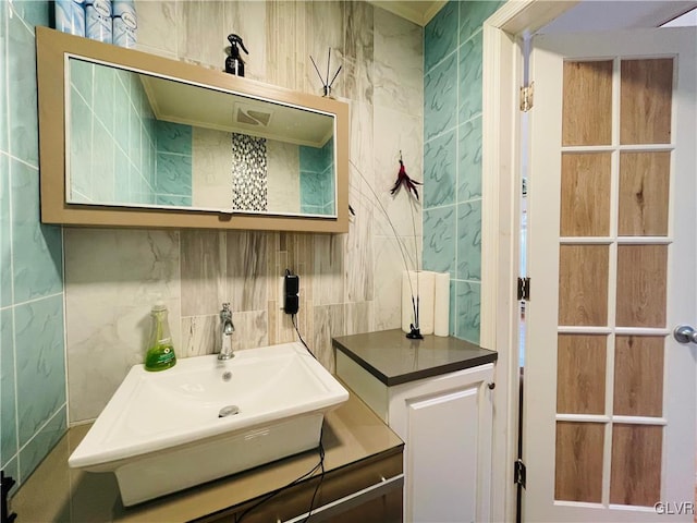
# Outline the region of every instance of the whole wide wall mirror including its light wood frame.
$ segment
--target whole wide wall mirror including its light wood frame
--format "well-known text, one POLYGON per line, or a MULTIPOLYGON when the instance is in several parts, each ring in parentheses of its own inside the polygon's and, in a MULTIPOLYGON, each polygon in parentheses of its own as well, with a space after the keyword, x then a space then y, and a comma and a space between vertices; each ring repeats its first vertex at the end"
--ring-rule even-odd
POLYGON ((346 104, 36 33, 41 221, 347 231, 346 104))

